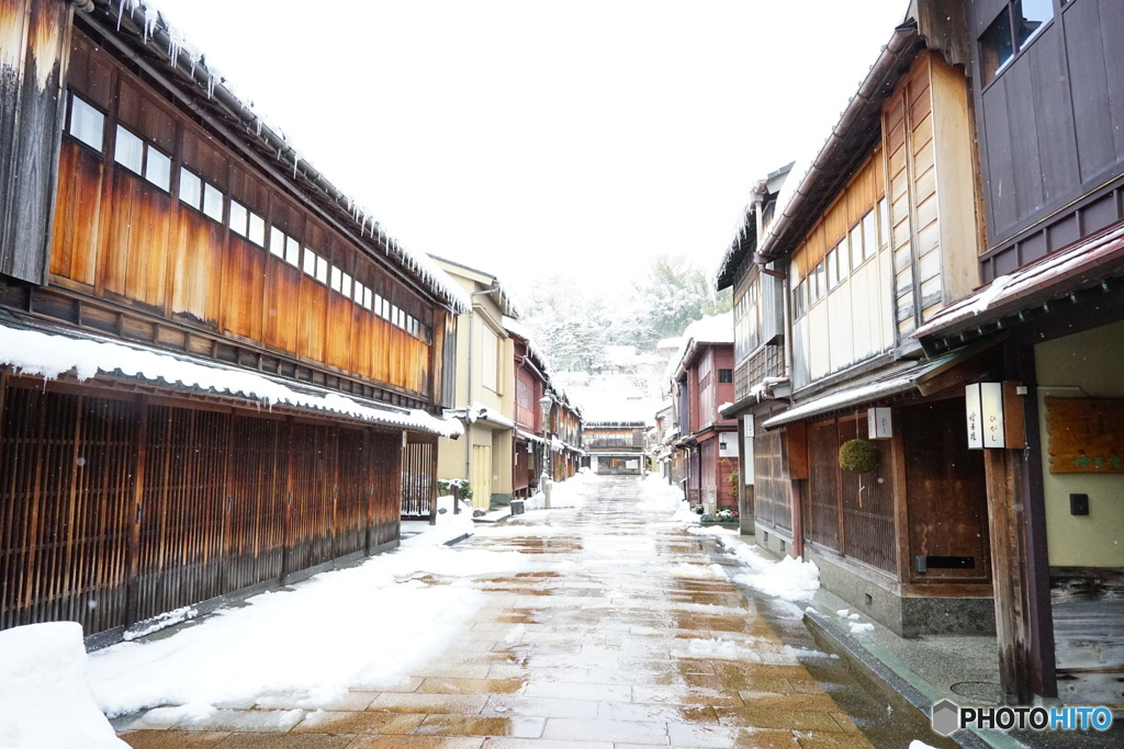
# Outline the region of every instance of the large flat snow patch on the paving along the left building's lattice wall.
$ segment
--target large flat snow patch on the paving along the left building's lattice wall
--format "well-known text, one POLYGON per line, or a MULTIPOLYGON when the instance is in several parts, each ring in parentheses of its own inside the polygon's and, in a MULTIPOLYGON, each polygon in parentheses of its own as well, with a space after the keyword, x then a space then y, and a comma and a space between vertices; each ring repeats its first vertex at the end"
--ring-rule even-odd
POLYGON ((110 716, 178 705, 151 719, 206 720, 218 703, 265 705, 263 695, 271 692, 296 693, 300 706, 315 709, 348 686, 400 683, 483 602, 469 585, 429 585, 411 576, 506 575, 532 566, 516 551, 454 551, 443 539, 472 532, 472 521, 463 514, 438 518, 402 548, 355 567, 254 596, 167 638, 92 654, 97 705, 110 716))

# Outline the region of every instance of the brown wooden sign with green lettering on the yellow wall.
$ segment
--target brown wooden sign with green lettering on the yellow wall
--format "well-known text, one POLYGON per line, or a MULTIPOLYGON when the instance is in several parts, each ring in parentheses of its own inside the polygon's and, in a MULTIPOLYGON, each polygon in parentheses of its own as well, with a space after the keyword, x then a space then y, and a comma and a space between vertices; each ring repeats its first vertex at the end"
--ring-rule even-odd
POLYGON ((1124 473, 1124 399, 1046 398, 1050 473, 1124 473))

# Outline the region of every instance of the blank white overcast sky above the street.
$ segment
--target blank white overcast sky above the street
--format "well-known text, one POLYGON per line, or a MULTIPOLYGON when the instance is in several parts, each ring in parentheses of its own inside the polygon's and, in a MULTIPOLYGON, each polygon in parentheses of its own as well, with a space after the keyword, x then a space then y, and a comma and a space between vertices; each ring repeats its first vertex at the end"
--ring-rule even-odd
POLYGON ((154 0, 414 252, 600 289, 711 271, 823 144, 907 0, 154 0))

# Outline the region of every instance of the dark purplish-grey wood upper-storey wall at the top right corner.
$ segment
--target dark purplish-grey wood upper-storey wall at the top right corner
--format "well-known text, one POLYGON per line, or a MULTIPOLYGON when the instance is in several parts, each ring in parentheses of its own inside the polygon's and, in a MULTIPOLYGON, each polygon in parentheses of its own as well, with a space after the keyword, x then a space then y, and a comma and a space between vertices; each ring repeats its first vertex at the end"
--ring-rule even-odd
POLYGON ((1124 16, 1115 0, 973 0, 985 282, 1124 220, 1124 16), (1003 17, 1015 34, 991 58, 1003 17), (987 54, 986 54, 987 53, 987 54))

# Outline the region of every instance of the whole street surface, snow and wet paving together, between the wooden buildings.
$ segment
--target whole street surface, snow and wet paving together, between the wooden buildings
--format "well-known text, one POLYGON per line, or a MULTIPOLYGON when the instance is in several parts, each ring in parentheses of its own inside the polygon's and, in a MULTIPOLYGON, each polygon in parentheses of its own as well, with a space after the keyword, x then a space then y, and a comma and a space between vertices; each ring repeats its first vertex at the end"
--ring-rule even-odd
MULTIPOLYGON (((658 481, 563 486, 572 506, 443 515, 393 552, 94 652, 90 710, 134 747, 871 746, 855 721, 870 732, 885 705, 736 585, 803 600, 815 567, 698 527, 658 481)), ((877 746, 927 737, 900 723, 877 746)))

